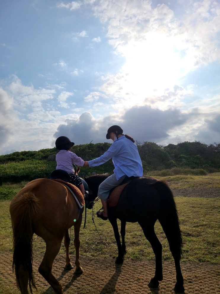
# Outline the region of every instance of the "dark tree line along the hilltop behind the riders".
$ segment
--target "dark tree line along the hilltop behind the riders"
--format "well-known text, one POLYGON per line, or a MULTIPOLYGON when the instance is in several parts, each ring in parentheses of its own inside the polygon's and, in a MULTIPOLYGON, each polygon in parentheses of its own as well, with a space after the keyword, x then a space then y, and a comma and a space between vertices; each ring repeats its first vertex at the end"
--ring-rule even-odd
MULTIPOLYGON (((208 172, 220 169, 220 143, 204 144, 198 141, 157 145, 153 142, 136 142, 144 171, 171 169, 173 167, 198 169, 208 172)), ((72 151, 84 160, 91 160, 102 155, 110 147, 110 143, 74 145, 72 151)), ((56 148, 38 151, 21 151, 0 155, 0 164, 25 160, 55 161, 56 148)), ((110 160, 105 164, 107 172, 113 168, 110 160)))

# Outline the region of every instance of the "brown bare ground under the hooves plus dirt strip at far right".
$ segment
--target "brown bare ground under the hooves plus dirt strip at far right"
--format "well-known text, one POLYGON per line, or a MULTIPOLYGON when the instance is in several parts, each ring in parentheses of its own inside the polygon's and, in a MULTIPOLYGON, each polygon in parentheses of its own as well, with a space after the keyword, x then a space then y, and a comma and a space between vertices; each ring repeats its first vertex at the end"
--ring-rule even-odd
MULTIPOLYGON (((220 188, 172 189, 174 196, 182 197, 219 197, 220 188)), ((42 255, 34 255, 33 271, 38 292, 33 294, 54 293, 49 284, 38 273, 42 255)), ((71 256, 74 265, 74 256, 71 256)), ((63 287, 65 294, 169 294, 175 293, 175 266, 173 262, 163 261, 163 281, 157 289, 147 284, 154 276, 155 263, 147 260, 126 259, 122 265, 115 265, 111 257, 89 259, 80 257, 83 274, 74 275, 74 270, 65 271, 65 255, 59 254, 54 261, 53 274, 63 287)), ((9 285, 16 289, 12 273, 12 254, 1 254, 0 288, 9 285)), ((219 265, 211 263, 181 262, 185 294, 219 294, 219 265)), ((10 292, 12 293, 12 292, 10 292)), ((13 293, 19 293, 15 290, 13 293)), ((7 293, 5 293, 7 294, 7 293)))

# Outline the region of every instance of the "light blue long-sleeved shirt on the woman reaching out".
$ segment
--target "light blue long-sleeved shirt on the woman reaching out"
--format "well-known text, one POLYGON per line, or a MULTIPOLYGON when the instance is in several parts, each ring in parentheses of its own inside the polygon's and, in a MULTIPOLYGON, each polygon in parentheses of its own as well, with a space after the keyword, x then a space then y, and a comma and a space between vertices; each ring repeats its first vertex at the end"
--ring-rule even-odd
POLYGON ((125 136, 118 138, 110 148, 100 157, 89 160, 89 166, 99 166, 112 158, 116 179, 126 175, 128 177, 142 177, 143 168, 137 145, 125 136))

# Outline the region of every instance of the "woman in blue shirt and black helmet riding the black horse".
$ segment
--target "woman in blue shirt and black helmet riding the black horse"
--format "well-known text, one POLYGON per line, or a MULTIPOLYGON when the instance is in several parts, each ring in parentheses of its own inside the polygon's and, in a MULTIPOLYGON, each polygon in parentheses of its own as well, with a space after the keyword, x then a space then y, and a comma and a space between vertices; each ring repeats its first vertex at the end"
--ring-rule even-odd
POLYGON ((106 134, 106 139, 112 139, 113 144, 100 157, 85 161, 84 166, 99 166, 112 158, 113 174, 99 185, 98 197, 101 199, 103 211, 97 211, 97 217, 108 219, 107 199, 112 188, 121 184, 127 177, 142 177, 143 168, 137 145, 129 135, 124 135, 118 125, 112 125, 106 134))

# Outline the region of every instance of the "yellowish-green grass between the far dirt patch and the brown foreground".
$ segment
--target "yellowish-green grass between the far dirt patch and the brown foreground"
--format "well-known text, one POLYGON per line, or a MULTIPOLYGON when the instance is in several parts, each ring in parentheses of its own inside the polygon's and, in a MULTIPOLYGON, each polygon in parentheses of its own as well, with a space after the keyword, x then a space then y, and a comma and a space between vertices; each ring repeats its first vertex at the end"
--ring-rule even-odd
MULTIPOLYGON (((183 236, 183 258, 182 261, 189 262, 211 262, 220 263, 219 260, 219 198, 196 198, 196 197, 175 197, 176 206, 179 212, 180 227, 183 236)), ((10 201, 0 201, 0 249, 1 252, 12 252, 12 228, 9 214, 10 201)), ((100 201, 94 206, 94 211, 100 208, 100 201)), ((84 216, 84 213, 83 213, 84 216)), ((107 247, 94 249, 95 241, 99 235, 92 221, 92 211, 87 210, 86 228, 80 231, 80 255, 88 258, 102 256, 117 256, 117 245, 113 229, 110 223, 94 219, 102 239, 107 239, 107 247)), ((120 230, 120 221, 118 221, 120 230)), ((70 232, 70 230, 69 230, 70 232)), ((173 261, 169 250, 168 241, 157 221, 155 232, 163 246, 163 259, 173 261)), ((73 246, 74 232, 71 229, 70 254, 75 254, 73 246)), ((146 259, 154 258, 150 243, 145 239, 142 229, 138 223, 126 224, 126 258, 146 259)), ((33 237, 34 252, 45 252, 45 242, 38 236, 33 237)), ((60 253, 65 253, 65 246, 62 242, 60 253)))

